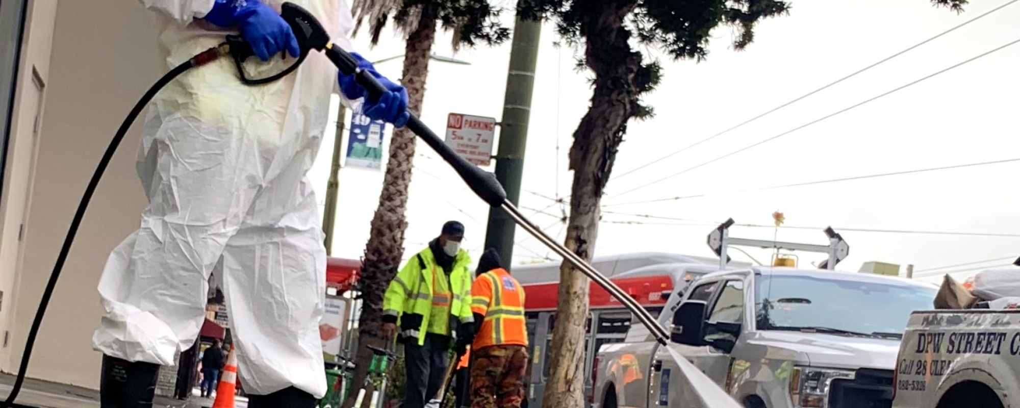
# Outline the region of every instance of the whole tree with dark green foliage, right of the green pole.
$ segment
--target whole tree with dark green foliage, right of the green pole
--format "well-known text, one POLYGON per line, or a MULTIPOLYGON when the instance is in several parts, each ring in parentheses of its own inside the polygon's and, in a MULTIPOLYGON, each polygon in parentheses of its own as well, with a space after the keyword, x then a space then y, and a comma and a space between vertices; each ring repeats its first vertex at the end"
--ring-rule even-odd
MULTIPOLYGON (((957 12, 967 4, 931 2, 957 12)), ((642 96, 655 89, 662 68, 633 45, 657 48, 673 59, 701 61, 713 30, 735 29, 732 46, 743 50, 755 40, 758 21, 790 9, 782 0, 520 0, 517 7, 530 18, 555 21, 565 42, 582 49, 579 66, 594 73, 591 106, 574 131, 569 153, 574 173, 565 238, 566 246, 585 260, 595 251, 601 198, 627 122, 654 114, 642 96)), ((588 278, 564 262, 551 346, 557 352, 550 361, 545 408, 585 405, 581 394, 588 373, 581 361, 588 289, 588 278)))

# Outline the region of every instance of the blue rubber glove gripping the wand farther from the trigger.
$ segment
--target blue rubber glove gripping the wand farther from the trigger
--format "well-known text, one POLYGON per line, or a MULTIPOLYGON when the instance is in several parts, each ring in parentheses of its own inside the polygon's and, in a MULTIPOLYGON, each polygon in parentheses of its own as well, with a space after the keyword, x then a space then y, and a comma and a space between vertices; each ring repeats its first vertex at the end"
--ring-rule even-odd
POLYGON ((396 128, 403 128, 407 124, 407 120, 411 118, 411 114, 407 112, 407 90, 400 84, 394 84, 375 71, 372 63, 368 62, 361 55, 358 55, 358 53, 352 52, 351 56, 358 60, 359 68, 370 72, 372 76, 378 80, 379 84, 382 84, 387 89, 387 93, 382 94, 378 100, 370 100, 368 92, 364 88, 361 88, 355 81, 355 75, 345 75, 343 72, 337 76, 340 92, 350 100, 365 98, 364 102, 362 102, 361 112, 372 120, 390 122, 396 128))

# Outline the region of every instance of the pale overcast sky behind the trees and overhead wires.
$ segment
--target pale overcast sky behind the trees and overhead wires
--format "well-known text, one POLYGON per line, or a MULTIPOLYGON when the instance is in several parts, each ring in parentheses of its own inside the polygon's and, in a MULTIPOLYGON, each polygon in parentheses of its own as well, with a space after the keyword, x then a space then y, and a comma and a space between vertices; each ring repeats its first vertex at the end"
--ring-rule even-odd
MULTIPOLYGON (((658 116, 631 122, 627 129, 613 170, 619 178, 611 181, 603 199, 604 219, 611 222, 600 225, 597 255, 638 251, 712 255, 705 237, 715 224, 732 217, 737 223, 769 225, 772 212, 779 210, 785 213, 785 225, 818 228, 780 228, 776 235, 780 241, 825 244, 822 227, 831 225, 840 232, 851 248, 851 255, 839 265, 846 270, 858 270, 867 261, 899 263, 904 270, 912 263, 918 276, 937 280, 940 271, 1008 264, 1007 258, 1020 256, 1018 237, 842 228, 1020 236, 1018 161, 715 193, 1020 158, 1020 44, 787 133, 1020 40, 1016 23, 1020 4, 1016 3, 798 103, 620 176, 1006 1, 972 0, 959 15, 934 8, 926 0, 795 1, 789 16, 758 26, 756 41, 746 51, 730 48, 733 33, 728 29, 714 33, 708 60, 702 63, 672 61, 653 51, 649 56, 660 58, 664 66, 662 84, 647 97, 658 116), (702 194, 711 195, 648 202, 702 194), (927 271, 985 260, 992 261, 927 271)), ((512 17, 508 13, 503 18, 507 27, 512 27, 512 17)), ((354 39, 355 48, 370 60, 402 54, 403 41, 390 33, 371 49, 365 33, 360 33, 354 39)), ((554 46, 557 38, 551 24, 544 27, 542 36, 520 206, 530 209, 525 213, 562 241, 563 224, 554 215, 568 208, 552 199, 569 194, 566 152, 589 105, 590 73, 574 69, 575 50, 554 46)), ((434 51, 451 56, 449 44, 449 35, 443 35, 434 51)), ((432 61, 422 112, 425 123, 442 134, 450 112, 499 118, 509 53, 507 42, 457 53, 456 58, 470 62, 469 66, 432 61)), ((395 59, 377 68, 398 79, 401 64, 401 59, 395 59)), ((310 173, 320 205, 332 149, 333 138, 327 134, 310 173)), ((435 238, 448 219, 464 222, 464 246, 477 258, 489 208, 424 144, 418 144, 414 165, 405 259, 435 238)), ((363 253, 381 183, 381 172, 341 170, 334 256, 358 258, 363 253)), ((772 239, 773 234, 774 228, 755 226, 733 226, 730 233, 756 239, 772 239)), ((519 228, 516 241, 514 263, 556 258, 519 228)), ((769 260, 769 251, 748 251, 763 262, 769 260)), ((809 267, 809 262, 824 258, 799 255, 801 265, 809 267)), ((748 260, 740 253, 731 256, 748 260)), ((962 279, 972 273, 961 270, 955 275, 962 279)))

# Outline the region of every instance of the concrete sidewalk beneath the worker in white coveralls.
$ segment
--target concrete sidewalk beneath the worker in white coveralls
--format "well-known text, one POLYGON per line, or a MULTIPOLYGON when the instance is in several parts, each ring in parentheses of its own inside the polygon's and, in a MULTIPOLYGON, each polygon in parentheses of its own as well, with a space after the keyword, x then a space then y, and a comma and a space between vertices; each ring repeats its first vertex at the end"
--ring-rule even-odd
MULTIPOLYGON (((0 374, 0 401, 6 400, 13 385, 13 375, 0 374)), ((199 408, 201 400, 198 397, 191 401, 156 397, 153 408, 199 408)), ((14 402, 39 408, 99 408, 99 391, 27 378, 14 402)), ((209 405, 211 402, 206 406, 209 405)), ((247 404, 238 406, 246 407, 247 404)))

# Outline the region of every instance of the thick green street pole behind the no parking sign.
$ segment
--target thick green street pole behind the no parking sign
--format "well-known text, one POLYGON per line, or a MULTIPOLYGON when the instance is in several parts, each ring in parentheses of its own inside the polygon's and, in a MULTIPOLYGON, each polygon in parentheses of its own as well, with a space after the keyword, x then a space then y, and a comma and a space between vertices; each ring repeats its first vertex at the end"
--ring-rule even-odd
MULTIPOLYGON (((520 178, 524 170, 524 148, 541 34, 541 21, 517 16, 510 46, 510 69, 507 72, 503 118, 500 121, 500 145, 496 155, 496 180, 506 190, 507 200, 514 205, 517 205, 520 198, 520 178)), ((489 209, 484 248, 495 248, 500 259, 507 265, 513 257, 515 232, 516 224, 506 212, 500 208, 489 209)))

